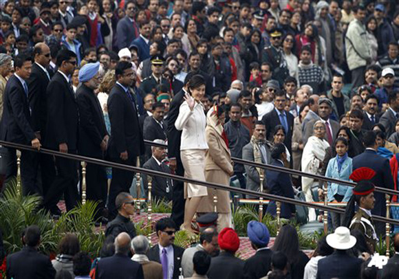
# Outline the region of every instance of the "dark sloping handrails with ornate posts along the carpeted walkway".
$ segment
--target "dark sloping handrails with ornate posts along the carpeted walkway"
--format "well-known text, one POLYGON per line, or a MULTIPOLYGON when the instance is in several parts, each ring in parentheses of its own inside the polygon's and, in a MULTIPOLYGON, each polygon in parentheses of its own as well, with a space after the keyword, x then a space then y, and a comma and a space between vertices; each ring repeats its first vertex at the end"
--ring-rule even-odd
MULTIPOLYGON (((161 147, 166 147, 165 145, 162 144, 156 144, 153 142, 148 142, 146 141, 145 144, 147 145, 153 145, 153 146, 161 146, 161 147)), ((69 154, 69 153, 61 153, 59 151, 55 151, 55 150, 50 150, 47 148, 41 148, 41 150, 36 150, 35 148, 32 148, 32 146, 25 146, 23 144, 15 144, 12 142, 4 142, 4 141, 0 141, 0 145, 1 146, 6 146, 6 147, 10 147, 10 148, 15 148, 17 149, 17 181, 19 181, 20 179, 20 175, 21 175, 21 153, 19 152, 19 150, 30 150, 30 151, 35 151, 38 153, 43 153, 43 154, 47 154, 47 155, 54 155, 57 157, 64 157, 64 158, 68 158, 68 159, 74 159, 76 161, 80 161, 80 164, 83 168, 83 175, 82 175, 82 203, 85 203, 86 201, 86 164, 87 163, 91 163, 91 164, 97 164, 100 166, 107 166, 107 167, 111 167, 111 168, 119 168, 122 170, 130 170, 132 172, 136 172, 138 175, 140 175, 140 173, 144 173, 146 175, 149 175, 149 197, 147 197, 147 202, 149 203, 147 208, 148 208, 148 221, 151 222, 151 188, 152 188, 152 183, 151 183, 151 177, 152 176, 158 176, 158 177, 166 177, 169 179, 174 179, 174 180, 178 180, 178 181, 184 181, 184 182, 188 182, 188 183, 195 183, 197 185, 201 185, 201 186, 205 186, 207 188, 216 188, 219 190, 226 190, 226 191, 231 191, 231 192, 237 192, 237 193, 241 193, 241 194, 248 194, 254 197, 259 197, 261 198, 260 201, 260 205, 262 205, 262 200, 263 199, 269 199, 269 200, 273 200, 277 202, 277 213, 281 212, 281 202, 283 203, 292 203, 294 205, 302 205, 305 207, 310 207, 310 208, 314 208, 314 209, 318 209, 318 210, 323 210, 325 212, 323 219, 324 219, 324 225, 325 225, 325 232, 326 232, 326 225, 327 225, 327 212, 336 212, 336 213, 344 213, 345 210, 341 209, 341 208, 335 208, 332 206, 327 205, 327 203, 321 204, 321 203, 310 203, 307 201, 301 201, 301 200, 296 200, 296 199, 290 199, 288 197, 281 197, 281 196, 276 196, 274 194, 268 194, 265 192, 257 192, 257 191, 253 191, 253 190, 247 190, 247 189, 242 189, 242 188, 235 188, 235 187, 231 187, 231 186, 226 186, 226 185, 222 185, 222 184, 218 184, 218 183, 211 183, 211 182, 206 182, 206 181, 199 181, 199 180, 195 180, 195 179, 189 179, 186 177, 181 177, 180 175, 173 175, 173 174, 169 174, 166 172, 159 172, 156 170, 149 170, 146 168, 140 168, 138 166, 128 166, 128 165, 124 165, 124 164, 118 164, 112 161, 105 161, 102 159, 96 159, 96 158, 91 158, 91 157, 85 157, 85 156, 81 156, 81 155, 73 155, 73 154, 69 154)), ((286 173, 290 173, 290 174, 297 174, 297 175, 301 175, 301 176, 306 176, 306 177, 312 177, 314 179, 321 179, 323 181, 332 181, 332 182, 336 182, 336 183, 342 183, 348 186, 354 186, 355 183, 350 183, 348 181, 341 181, 338 179, 330 179, 327 177, 323 177, 321 175, 312 175, 312 174, 308 174, 306 172, 299 172, 297 170, 290 170, 287 168, 281 168, 281 167, 277 167, 277 166, 270 166, 267 164, 257 164, 255 162, 252 161, 246 161, 246 160, 242 160, 242 159, 237 159, 237 158, 233 158, 233 161, 236 161, 239 164, 248 164, 248 165, 252 165, 258 168, 266 168, 266 169, 270 169, 270 170, 276 170, 276 171, 281 171, 281 172, 286 172, 286 173)), ((140 176, 138 177, 140 180, 140 176)), ((138 181, 138 183, 140 183, 140 181, 138 181)), ((19 187, 21 187, 21 183, 19 183, 19 187)), ((138 187, 140 188, 140 187, 138 187)), ((385 191, 387 189, 384 188, 378 188, 377 191, 378 192, 385 192, 388 194, 399 194, 399 191, 394 191, 394 190, 389 190, 389 191, 385 191)), ((326 192, 326 191, 325 191, 326 192)), ((138 193, 139 194, 139 193, 138 193)), ((136 199, 136 202, 138 204, 138 208, 140 208, 140 195, 137 196, 138 199, 136 199)), ((215 199, 214 199, 215 200, 215 199)), ((389 204, 389 199, 387 199, 387 208, 389 208, 390 204, 389 204)), ((387 232, 386 232, 386 236, 387 236, 387 243, 388 243, 388 238, 389 238, 389 227, 391 225, 399 225, 399 220, 396 219, 391 219, 389 218, 389 210, 387 209, 387 217, 382 217, 382 216, 376 216, 373 215, 372 216, 374 221, 380 221, 380 222, 384 222, 387 223, 387 232)), ((279 225, 281 225, 281 221, 279 218, 279 214, 277 214, 277 223, 279 225)), ((387 246, 387 253, 389 253, 387 246)))

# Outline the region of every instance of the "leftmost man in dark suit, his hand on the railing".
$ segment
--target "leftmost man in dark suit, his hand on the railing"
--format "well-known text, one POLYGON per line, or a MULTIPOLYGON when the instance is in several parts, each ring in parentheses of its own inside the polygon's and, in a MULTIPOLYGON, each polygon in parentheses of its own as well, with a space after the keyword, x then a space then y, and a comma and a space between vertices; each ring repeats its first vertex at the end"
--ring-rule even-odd
MULTIPOLYGON (((32 71, 32 58, 23 54, 14 59, 15 73, 7 82, 3 96, 1 118, 1 140, 17 144, 32 145, 39 149, 41 143, 32 128, 28 102, 28 80, 32 71)), ((17 175, 17 154, 14 148, 7 148, 8 162, 6 181, 17 175)), ((41 194, 36 183, 37 153, 21 150, 21 179, 23 194, 41 194)))

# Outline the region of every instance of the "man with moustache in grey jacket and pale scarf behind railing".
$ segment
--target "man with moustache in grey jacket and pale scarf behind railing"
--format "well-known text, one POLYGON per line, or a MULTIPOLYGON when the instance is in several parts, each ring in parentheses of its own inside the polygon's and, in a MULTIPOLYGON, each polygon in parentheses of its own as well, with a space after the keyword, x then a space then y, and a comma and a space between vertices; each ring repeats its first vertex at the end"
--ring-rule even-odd
MULTIPOLYGON (((262 164, 270 164, 270 146, 271 144, 266 141, 266 126, 263 122, 258 121, 255 122, 255 129, 252 134, 252 138, 250 143, 242 148, 242 159, 248 161, 255 161, 257 163, 262 164), (255 144, 255 148, 254 148, 255 144), (254 154, 254 149, 257 150, 259 148, 260 158, 257 158, 257 155, 254 154)), ((246 171, 246 188, 247 190, 258 191, 260 186, 259 172, 257 168, 253 166, 244 166, 246 171)), ((263 189, 266 189, 266 177, 263 180, 263 189)), ((250 199, 253 196, 249 196, 250 199)))

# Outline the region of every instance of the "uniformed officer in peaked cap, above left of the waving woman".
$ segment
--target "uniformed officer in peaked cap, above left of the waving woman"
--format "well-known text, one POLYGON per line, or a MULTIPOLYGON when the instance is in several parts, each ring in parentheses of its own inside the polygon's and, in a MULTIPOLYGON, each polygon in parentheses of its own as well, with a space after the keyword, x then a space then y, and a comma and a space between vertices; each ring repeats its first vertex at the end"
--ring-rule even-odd
POLYGON ((162 78, 164 71, 164 58, 160 55, 153 56, 151 58, 151 70, 152 74, 148 78, 144 78, 140 84, 140 90, 144 93, 156 94, 156 87, 160 84, 169 86, 169 82, 162 78))

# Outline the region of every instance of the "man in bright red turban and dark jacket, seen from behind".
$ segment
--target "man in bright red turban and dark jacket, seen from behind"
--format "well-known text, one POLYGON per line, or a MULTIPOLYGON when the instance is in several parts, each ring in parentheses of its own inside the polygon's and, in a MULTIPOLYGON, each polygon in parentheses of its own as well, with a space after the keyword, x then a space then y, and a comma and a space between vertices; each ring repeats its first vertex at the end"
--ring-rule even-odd
POLYGON ((219 233, 217 242, 219 256, 212 258, 208 270, 209 279, 241 279, 244 276, 244 261, 235 257, 239 248, 239 238, 235 230, 225 227, 219 233))

